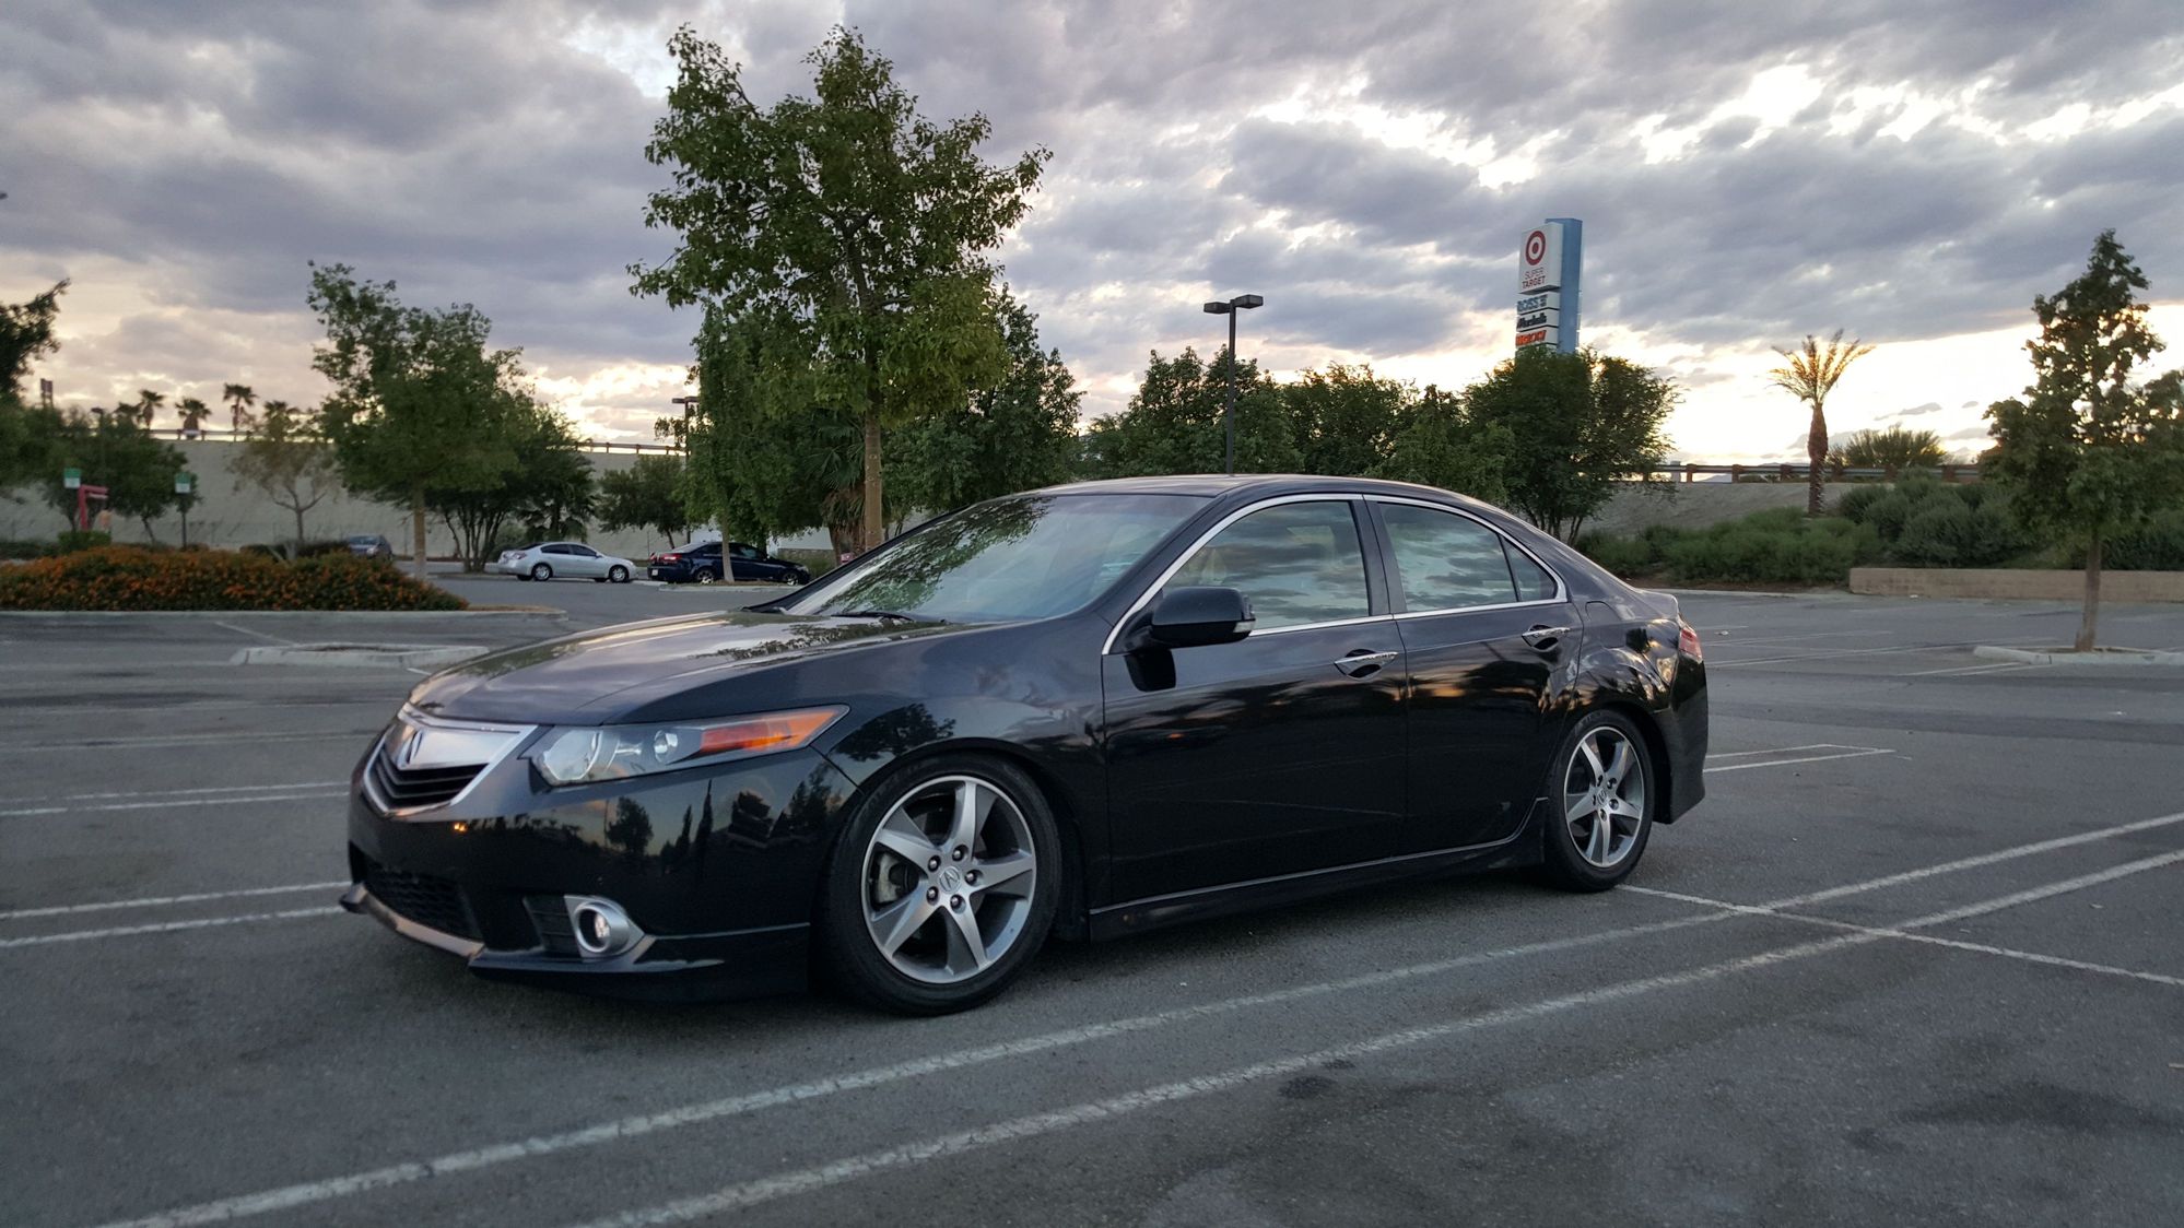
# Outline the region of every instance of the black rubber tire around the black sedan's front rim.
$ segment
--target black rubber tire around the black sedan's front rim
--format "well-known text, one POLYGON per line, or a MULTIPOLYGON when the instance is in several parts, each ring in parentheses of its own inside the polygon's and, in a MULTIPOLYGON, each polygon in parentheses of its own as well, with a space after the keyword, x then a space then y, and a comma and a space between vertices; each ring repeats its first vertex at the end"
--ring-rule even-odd
MULTIPOLYGON (((981 829, 983 842, 992 840, 996 833, 994 824, 1005 822, 998 807, 992 814, 996 818, 987 820, 989 824, 981 829)), ((983 851, 994 855, 992 844, 983 844, 983 851)), ((978 855, 974 853, 968 862, 978 864, 978 855)), ((948 862, 943 862, 943 872, 946 868, 948 862)), ((1037 783, 1033 783, 1031 776, 1026 776, 1018 766, 985 755, 939 755, 917 761, 900 772, 889 772, 882 781, 876 781, 863 792, 863 796, 852 805, 847 822, 843 822, 834 838, 834 851, 828 857, 826 875, 821 879, 817 942, 812 949, 817 962, 815 973, 821 982, 839 988, 841 992, 898 1014, 950 1014, 957 1010, 970 1010, 1005 990, 1046 942, 1046 934, 1055 923, 1057 901, 1061 899, 1064 872, 1068 870, 1064 866, 1061 835, 1055 827, 1053 809, 1046 805, 1044 794, 1040 794, 1037 783), (992 899, 992 903, 1002 905, 1013 899, 1029 899, 1016 936, 1000 955, 992 958, 992 966, 978 973, 965 973, 963 979, 950 984, 933 984, 898 968, 898 964, 880 951, 871 929, 867 929, 867 910, 878 907, 867 896, 880 886, 882 877, 874 875, 874 835, 898 803, 917 798, 930 790, 952 787, 952 781, 965 779, 1002 794, 1016 816, 1022 818, 1022 829, 1029 835, 1029 851, 1035 866, 1031 875, 1033 886, 1029 896, 1002 894, 992 899)), ((900 892, 898 899, 909 901, 915 892, 917 883, 900 892)), ((937 903, 939 907, 946 907, 946 899, 937 903)), ((976 923, 985 905, 970 903, 970 916, 976 923)), ((950 916, 946 912, 933 912, 930 925, 941 927, 941 936, 946 936, 950 916)), ((919 927, 917 934, 926 936, 930 931, 919 927)), ((904 951, 909 949, 911 947, 906 944, 904 951)), ((935 971, 939 973, 939 968, 935 971)))

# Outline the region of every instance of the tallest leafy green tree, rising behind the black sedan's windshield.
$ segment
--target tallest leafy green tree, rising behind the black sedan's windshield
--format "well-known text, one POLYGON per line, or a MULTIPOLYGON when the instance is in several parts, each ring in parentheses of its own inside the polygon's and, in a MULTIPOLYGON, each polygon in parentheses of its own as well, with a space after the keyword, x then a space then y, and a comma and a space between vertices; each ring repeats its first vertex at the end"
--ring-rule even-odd
POLYGON ((758 349, 762 410, 856 417, 869 550, 885 530, 882 430, 961 404, 1007 366, 985 253, 1024 216, 1048 155, 985 164, 985 116, 926 120, 854 31, 806 59, 810 98, 771 109, 688 26, 668 50, 677 81, 644 155, 675 185, 644 220, 681 244, 631 266, 633 290, 725 310, 758 349))

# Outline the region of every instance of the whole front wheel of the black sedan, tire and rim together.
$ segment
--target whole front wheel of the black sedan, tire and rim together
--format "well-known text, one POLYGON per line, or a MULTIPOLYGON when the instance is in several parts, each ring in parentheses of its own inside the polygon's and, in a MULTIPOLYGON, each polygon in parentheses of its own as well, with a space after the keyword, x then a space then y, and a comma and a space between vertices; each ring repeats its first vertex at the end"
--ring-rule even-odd
POLYGON ((998 995, 1046 940, 1059 835, 1011 763, 950 755, 858 803, 828 864, 823 973, 902 1014, 998 995))

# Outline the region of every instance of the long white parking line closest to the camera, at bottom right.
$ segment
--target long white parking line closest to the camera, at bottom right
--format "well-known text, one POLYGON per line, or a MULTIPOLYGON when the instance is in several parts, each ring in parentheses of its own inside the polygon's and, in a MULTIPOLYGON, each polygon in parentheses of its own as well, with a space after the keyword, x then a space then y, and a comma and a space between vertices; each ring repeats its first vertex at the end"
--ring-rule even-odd
MULTIPOLYGON (((2005 907, 2016 907, 2020 903, 2031 903, 2035 899, 2049 899, 2064 892, 2075 892, 2094 883, 2105 883, 2121 879, 2125 875, 2136 875, 2143 870, 2153 870, 2160 866, 2171 866, 2184 862, 2184 851, 2164 853, 2160 857, 2145 857, 2127 866, 2116 866, 2114 870, 2103 870, 2099 875, 2084 875, 2077 879, 2064 879, 2060 883, 2049 883, 2044 888, 2033 888, 2027 892, 2016 892, 1998 896, 1992 901, 1981 901, 1974 905, 1957 907, 1950 912, 1937 912, 1931 916, 1920 916, 1898 925, 1896 929, 1920 929, 1928 925, 1946 925, 1950 920, 1963 920, 1968 916, 1981 916, 1987 912, 2001 912, 2005 907)), ((769 1178, 758 1178, 749 1182, 738 1182, 714 1193, 699 1197, 684 1197, 651 1206, 644 1211, 627 1211, 622 1215, 609 1215, 605 1219, 592 1219, 585 1228, 653 1228, 657 1224, 686 1224, 690 1219, 705 1219, 727 1211, 743 1211, 764 1202, 778 1202, 782 1197, 810 1193, 847 1180, 865 1178, 887 1169, 902 1169, 911 1165, 922 1165, 928 1160, 943 1160, 948 1156, 961 1156, 968 1152, 983 1152, 987 1147, 998 1147, 1005 1143, 1018 1143, 1024 1139, 1035 1139, 1042 1134, 1055 1134, 1075 1125, 1088 1125, 1094 1121, 1114 1121, 1144 1108, 1155 1108, 1162 1104, 1175 1104, 1182 1099, 1197 1099, 1201 1095, 1230 1091, 1251 1082, 1265 1082, 1278 1075, 1308 1071, 1339 1060, 1369 1058, 1374 1054, 1387 1054, 1391 1049, 1409 1049, 1431 1040, 1446 1040, 1463 1032, 1481 1032, 1487 1027, 1500 1027, 1507 1023, 1527 1023, 1546 1014, 1562 1014, 1566 1010, 1581 1010, 1588 1006, 1607 1006, 1623 999, 1634 999, 1666 988, 1682 988, 1701 982, 1712 982, 1721 977, 1732 977, 1736 973, 1749 973, 1756 968, 1767 968, 1776 964, 1787 964, 1791 960, 1804 960, 1811 955, 1824 955, 1830 951, 1843 951, 1848 947, 1861 947, 1867 942, 1878 942, 1880 934, 1843 934, 1839 938, 1821 938, 1817 942, 1800 942, 1795 947, 1776 947, 1773 951, 1760 951, 1756 955, 1745 955, 1741 960, 1723 960, 1719 964, 1706 964, 1704 968, 1690 968, 1684 973, 1669 973, 1660 977, 1638 977, 1612 986, 1601 986, 1594 990, 1572 992, 1564 997, 1551 997, 1544 1001, 1533 1001, 1527 1006, 1511 1006, 1503 1010, 1487 1010, 1481 1014, 1468 1014, 1461 1019, 1450 1019, 1446 1023, 1428 1023, 1424 1027, 1406 1027, 1402 1032, 1387 1032, 1369 1040, 1352 1040, 1348 1045, 1332 1045, 1328 1049, 1315 1049, 1310 1054, 1293 1054, 1289 1058, 1275 1058, 1269 1062, 1256 1062, 1249 1067, 1236 1067, 1216 1075, 1199 1075, 1190 1080, 1179 1080, 1171 1084, 1149 1086, 1131 1093, 1123 1093, 1109 1099, 1096 1099, 1061 1108, 1055 1112, 1035 1112, 1031 1117, 1018 1117, 1013 1121, 998 1121, 994 1125, 981 1125, 974 1130, 963 1130, 959 1134, 943 1134, 939 1139, 924 1139, 917 1143, 906 1143, 900 1147, 887 1147, 880 1152, 865 1152, 863 1156, 847 1156, 828 1165, 817 1165, 808 1169, 797 1169, 788 1173, 775 1173, 769 1178)))

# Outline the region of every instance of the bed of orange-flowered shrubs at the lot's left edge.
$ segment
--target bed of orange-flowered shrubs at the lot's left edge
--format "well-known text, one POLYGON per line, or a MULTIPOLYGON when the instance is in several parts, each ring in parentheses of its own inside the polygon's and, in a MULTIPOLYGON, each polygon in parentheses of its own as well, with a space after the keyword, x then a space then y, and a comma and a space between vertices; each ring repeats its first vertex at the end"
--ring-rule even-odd
POLYGON ((0 567, 0 611, 459 611, 463 598, 352 554, 81 550, 0 567))

